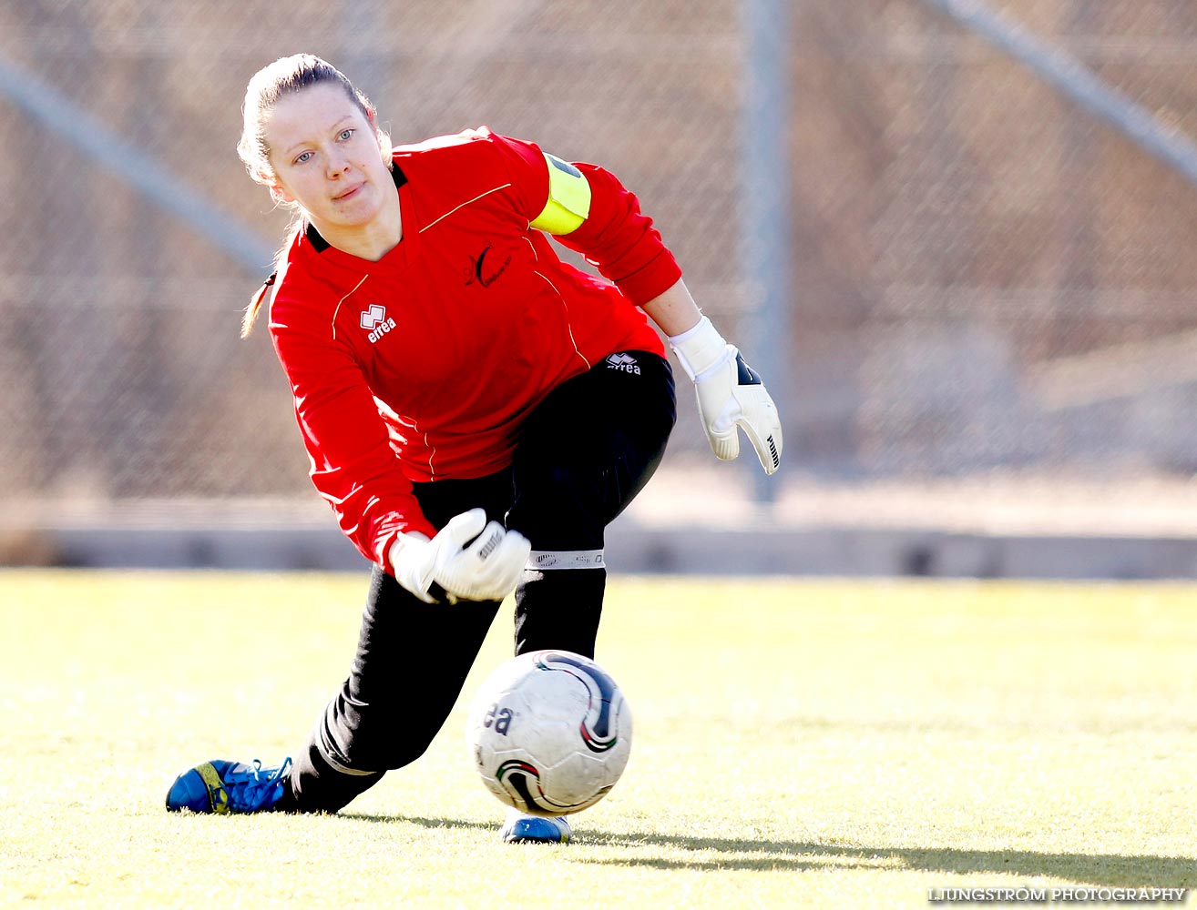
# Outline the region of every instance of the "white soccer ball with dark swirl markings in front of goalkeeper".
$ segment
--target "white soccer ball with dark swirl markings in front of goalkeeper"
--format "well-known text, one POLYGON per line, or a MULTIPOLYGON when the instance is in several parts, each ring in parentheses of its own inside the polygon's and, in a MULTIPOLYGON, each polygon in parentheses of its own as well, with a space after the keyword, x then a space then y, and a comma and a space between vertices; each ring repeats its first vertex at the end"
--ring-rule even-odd
POLYGON ((470 758, 502 802, 567 816, 615 786, 632 749, 632 713, 615 682, 569 651, 522 654, 496 670, 466 725, 470 758))

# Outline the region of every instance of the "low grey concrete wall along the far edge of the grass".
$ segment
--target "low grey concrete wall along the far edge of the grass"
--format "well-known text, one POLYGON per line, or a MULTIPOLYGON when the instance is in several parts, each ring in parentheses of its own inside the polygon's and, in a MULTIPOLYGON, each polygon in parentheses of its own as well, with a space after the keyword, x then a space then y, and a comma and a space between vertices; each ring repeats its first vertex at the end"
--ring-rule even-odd
MULTIPOLYGON (((186 527, 47 524, 8 562, 111 568, 361 570, 365 560, 328 526, 186 527)), ((1193 579, 1197 539, 982 535, 869 527, 645 527, 620 519, 607 538, 614 573, 786 574, 1027 579, 1193 579)))

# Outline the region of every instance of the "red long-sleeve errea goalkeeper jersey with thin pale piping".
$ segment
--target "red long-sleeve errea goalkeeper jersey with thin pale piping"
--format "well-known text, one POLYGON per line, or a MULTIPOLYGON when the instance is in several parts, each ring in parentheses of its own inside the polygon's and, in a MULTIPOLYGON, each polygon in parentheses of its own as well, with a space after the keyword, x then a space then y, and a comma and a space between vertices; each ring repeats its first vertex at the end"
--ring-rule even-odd
POLYGON ((384 569, 397 533, 436 532, 413 481, 502 470, 560 383, 614 352, 664 354, 636 306, 681 276, 660 233, 619 181, 577 163, 589 213, 560 239, 610 281, 563 263, 530 226, 549 166, 486 128, 397 147, 399 245, 370 262, 303 225, 279 270, 271 337, 311 480, 384 569))

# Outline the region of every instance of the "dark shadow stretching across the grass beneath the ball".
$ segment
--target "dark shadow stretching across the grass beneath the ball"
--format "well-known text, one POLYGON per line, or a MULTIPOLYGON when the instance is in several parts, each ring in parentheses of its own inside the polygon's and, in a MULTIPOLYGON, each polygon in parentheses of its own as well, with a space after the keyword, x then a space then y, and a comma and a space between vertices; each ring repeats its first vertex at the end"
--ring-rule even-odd
MULTIPOLYGON (((452 818, 366 816, 341 813, 357 822, 407 822, 424 827, 467 827, 494 831, 496 825, 452 818)), ((675 837, 670 835, 615 835, 579 831, 579 845, 622 847, 644 851, 644 856, 571 859, 600 866, 630 866, 658 869, 828 869, 897 868, 952 875, 1001 873, 1023 879, 1046 877, 1078 885, 1110 887, 1197 887, 1197 857, 1128 856, 1122 854, 1035 853, 1031 850, 960 850, 953 848, 838 847, 800 841, 752 841, 722 837, 675 837), (700 854, 687 856, 651 855, 651 849, 700 854)))

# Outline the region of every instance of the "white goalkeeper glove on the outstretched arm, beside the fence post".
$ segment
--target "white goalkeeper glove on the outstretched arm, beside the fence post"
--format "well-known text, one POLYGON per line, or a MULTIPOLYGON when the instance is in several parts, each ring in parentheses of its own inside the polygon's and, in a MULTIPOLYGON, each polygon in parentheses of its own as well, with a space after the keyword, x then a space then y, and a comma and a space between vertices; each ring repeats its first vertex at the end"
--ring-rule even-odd
POLYGON ((782 421, 760 375, 740 350, 705 316, 694 328, 670 336, 669 347, 694 380, 698 413, 715 457, 731 460, 740 454, 739 426, 765 474, 776 471, 782 465, 782 421))

